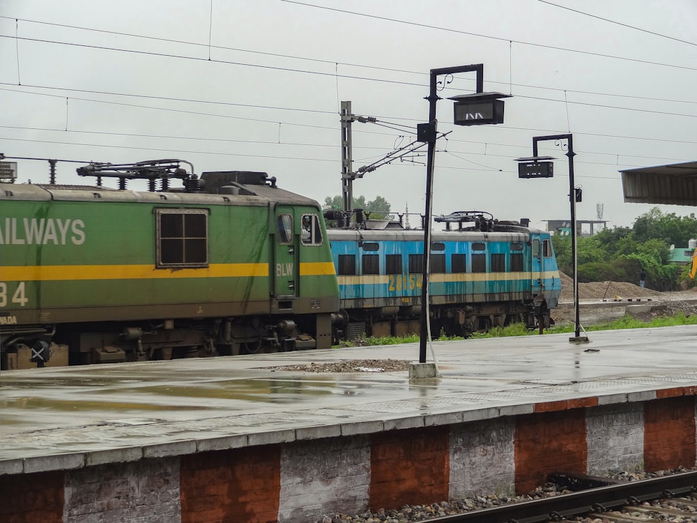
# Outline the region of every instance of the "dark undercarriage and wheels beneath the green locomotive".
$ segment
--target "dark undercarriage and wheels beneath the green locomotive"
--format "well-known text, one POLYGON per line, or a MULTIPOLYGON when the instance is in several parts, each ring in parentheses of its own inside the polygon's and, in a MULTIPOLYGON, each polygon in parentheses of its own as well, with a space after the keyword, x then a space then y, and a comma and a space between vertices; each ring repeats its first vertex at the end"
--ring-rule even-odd
POLYGON ((3 370, 327 348, 331 314, 34 326, 2 340, 3 370))

